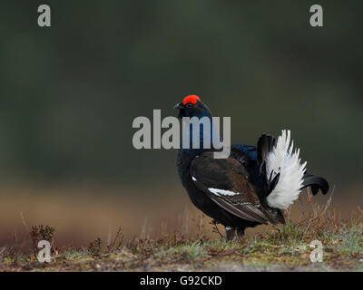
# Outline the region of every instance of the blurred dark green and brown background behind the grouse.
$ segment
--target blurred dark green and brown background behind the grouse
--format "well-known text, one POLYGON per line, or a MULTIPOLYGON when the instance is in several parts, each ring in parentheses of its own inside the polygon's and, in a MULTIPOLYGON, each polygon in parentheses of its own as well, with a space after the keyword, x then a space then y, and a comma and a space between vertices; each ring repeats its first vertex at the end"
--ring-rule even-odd
POLYGON ((233 143, 289 128, 334 207, 362 207, 362 2, 319 1, 322 28, 312 1, 46 1, 49 28, 41 4, 0 3, 0 247, 39 224, 58 245, 194 230, 176 150, 132 147, 135 117, 191 93, 233 143))

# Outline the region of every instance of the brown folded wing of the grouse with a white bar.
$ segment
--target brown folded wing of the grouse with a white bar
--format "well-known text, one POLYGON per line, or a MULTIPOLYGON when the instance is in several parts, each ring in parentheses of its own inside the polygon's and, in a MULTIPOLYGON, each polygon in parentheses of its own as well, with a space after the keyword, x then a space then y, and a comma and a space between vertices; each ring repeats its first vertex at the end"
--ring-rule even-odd
POLYGON ((191 179, 198 189, 232 215, 260 224, 276 223, 260 206, 248 181, 248 172, 238 160, 213 159, 212 152, 202 153, 191 162, 191 179))

